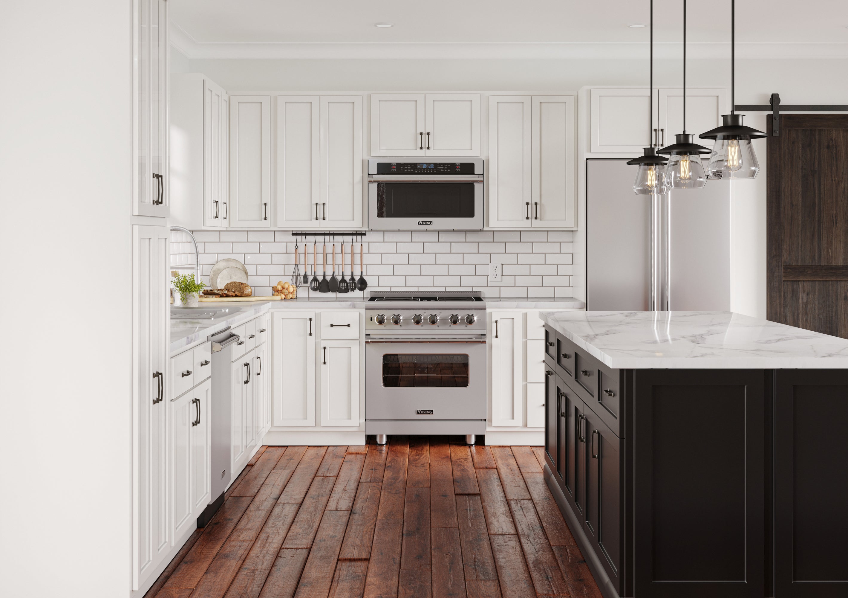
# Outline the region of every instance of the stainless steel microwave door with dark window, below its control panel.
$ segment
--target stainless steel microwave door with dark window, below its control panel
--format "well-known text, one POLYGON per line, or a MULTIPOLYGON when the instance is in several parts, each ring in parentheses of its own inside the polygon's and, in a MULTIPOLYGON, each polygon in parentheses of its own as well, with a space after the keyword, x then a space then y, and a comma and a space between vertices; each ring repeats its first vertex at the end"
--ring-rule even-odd
POLYGON ((483 177, 371 176, 368 227, 483 230, 483 177))

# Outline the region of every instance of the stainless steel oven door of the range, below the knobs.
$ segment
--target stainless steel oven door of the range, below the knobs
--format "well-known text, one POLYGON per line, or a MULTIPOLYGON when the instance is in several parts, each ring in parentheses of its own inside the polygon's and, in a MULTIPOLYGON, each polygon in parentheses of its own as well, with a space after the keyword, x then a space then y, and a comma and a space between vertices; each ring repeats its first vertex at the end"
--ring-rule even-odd
POLYGON ((365 341, 365 419, 485 418, 484 340, 365 341))

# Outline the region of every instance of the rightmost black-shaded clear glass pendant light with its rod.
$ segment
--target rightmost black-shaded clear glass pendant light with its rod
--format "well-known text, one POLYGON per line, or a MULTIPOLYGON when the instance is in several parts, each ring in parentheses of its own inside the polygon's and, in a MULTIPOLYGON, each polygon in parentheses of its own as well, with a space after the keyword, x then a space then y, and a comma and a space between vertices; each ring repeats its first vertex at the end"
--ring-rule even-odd
POLYGON ((707 172, 711 179, 752 179, 760 171, 751 139, 766 137, 762 131, 742 124, 745 115, 736 114, 736 3, 730 0, 730 114, 722 115, 722 126, 706 131, 701 139, 715 139, 707 172))

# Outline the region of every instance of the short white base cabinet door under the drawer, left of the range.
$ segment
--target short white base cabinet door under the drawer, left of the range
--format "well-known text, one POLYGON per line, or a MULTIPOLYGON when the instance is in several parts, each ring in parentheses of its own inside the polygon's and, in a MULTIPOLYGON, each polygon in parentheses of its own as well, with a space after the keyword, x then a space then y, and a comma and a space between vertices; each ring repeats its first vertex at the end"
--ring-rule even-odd
POLYGON ((360 425, 360 341, 321 342, 321 426, 360 425))

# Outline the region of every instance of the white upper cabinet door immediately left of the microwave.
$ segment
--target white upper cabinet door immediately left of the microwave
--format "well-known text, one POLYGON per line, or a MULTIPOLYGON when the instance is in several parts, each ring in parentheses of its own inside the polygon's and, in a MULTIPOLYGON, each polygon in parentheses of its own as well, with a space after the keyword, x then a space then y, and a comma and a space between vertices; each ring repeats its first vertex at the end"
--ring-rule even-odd
POLYGON ((362 226, 362 97, 321 96, 322 227, 362 226))

